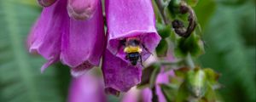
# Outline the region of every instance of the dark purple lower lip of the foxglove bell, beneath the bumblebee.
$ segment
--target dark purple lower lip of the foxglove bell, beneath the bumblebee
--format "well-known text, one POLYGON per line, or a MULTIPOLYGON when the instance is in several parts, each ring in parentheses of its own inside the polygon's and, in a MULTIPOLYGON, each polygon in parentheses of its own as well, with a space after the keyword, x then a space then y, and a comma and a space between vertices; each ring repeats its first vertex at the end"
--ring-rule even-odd
POLYGON ((141 81, 142 66, 133 66, 106 50, 102 71, 106 88, 127 92, 141 81))

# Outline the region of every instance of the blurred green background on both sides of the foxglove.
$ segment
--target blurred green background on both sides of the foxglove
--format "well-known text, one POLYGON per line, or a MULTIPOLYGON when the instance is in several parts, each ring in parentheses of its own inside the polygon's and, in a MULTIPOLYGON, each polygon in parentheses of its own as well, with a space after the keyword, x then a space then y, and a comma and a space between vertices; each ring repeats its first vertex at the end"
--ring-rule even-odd
MULTIPOLYGON (((200 0, 195 7, 206 54, 203 67, 221 73, 227 102, 256 101, 254 0, 200 0)), ((36 0, 0 0, 0 102, 64 102, 70 81, 67 66, 40 74, 46 61, 28 54, 26 37, 41 12, 36 0)))

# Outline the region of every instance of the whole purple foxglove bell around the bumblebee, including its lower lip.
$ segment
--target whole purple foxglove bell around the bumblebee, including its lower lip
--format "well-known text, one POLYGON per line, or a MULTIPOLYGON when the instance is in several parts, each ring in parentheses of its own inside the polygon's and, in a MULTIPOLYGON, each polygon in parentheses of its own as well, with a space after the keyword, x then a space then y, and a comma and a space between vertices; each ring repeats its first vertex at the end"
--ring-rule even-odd
POLYGON ((136 37, 143 61, 148 59, 160 42, 155 29, 154 9, 151 0, 106 0, 108 45, 102 71, 108 89, 126 92, 141 81, 142 64, 131 65, 125 59, 124 39, 136 37))

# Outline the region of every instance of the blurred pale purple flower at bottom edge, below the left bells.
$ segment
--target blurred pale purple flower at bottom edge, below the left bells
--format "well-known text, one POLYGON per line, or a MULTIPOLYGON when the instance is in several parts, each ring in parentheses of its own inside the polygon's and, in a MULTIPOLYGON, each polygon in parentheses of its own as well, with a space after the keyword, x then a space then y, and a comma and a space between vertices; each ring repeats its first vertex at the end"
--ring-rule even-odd
POLYGON ((68 102, 107 102, 101 79, 86 73, 83 76, 73 78, 68 102))

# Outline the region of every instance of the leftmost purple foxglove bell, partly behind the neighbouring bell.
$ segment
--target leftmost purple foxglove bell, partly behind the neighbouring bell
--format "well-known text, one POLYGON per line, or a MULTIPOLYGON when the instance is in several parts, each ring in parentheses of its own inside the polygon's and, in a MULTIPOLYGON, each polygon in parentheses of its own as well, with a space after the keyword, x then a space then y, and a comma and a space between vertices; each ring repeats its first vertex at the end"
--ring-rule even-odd
POLYGON ((61 53, 61 35, 67 33, 67 1, 60 0, 53 6, 44 8, 40 18, 32 28, 28 45, 30 52, 37 52, 48 59, 42 71, 55 61, 61 53))

